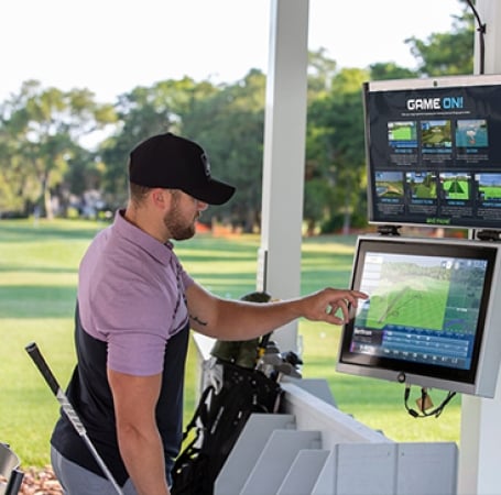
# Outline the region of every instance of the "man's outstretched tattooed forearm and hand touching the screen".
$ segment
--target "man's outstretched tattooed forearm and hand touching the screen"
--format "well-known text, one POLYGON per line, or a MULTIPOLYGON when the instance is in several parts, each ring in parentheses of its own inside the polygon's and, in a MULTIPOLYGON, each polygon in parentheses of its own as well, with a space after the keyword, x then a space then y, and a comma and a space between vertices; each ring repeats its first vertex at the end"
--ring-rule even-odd
POLYGON ((221 340, 248 340, 297 318, 342 324, 349 319, 349 307, 357 307, 358 299, 367 299, 367 295, 325 288, 296 299, 262 304, 222 299, 194 283, 186 299, 194 330, 221 340))

